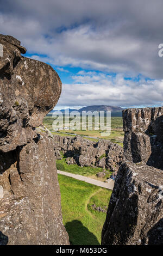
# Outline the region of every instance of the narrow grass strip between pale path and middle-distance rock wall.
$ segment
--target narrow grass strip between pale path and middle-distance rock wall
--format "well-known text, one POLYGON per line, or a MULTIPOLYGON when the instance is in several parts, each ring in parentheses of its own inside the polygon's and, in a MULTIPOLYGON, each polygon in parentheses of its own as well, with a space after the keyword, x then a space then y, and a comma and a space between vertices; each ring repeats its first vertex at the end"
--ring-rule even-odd
POLYGON ((77 164, 67 164, 66 157, 63 157, 62 160, 57 160, 56 164, 57 164, 58 170, 63 170, 68 173, 79 174, 79 175, 91 177, 93 179, 102 180, 102 181, 109 178, 110 175, 112 174, 112 172, 107 170, 108 173, 105 175, 104 178, 98 178, 96 175, 97 173, 102 172, 103 170, 102 168, 99 168, 99 167, 93 168, 90 166, 81 167, 81 166, 78 166, 77 164))

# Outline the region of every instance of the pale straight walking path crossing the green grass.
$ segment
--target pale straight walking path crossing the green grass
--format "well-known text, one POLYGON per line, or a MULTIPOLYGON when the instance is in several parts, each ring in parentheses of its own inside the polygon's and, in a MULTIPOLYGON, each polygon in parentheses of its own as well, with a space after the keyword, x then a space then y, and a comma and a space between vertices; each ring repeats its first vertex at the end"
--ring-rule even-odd
POLYGON ((113 187, 114 187, 114 181, 112 179, 110 179, 108 182, 105 183, 103 181, 91 179, 91 178, 88 178, 88 177, 85 177, 85 176, 82 176, 82 175, 63 172, 62 170, 57 170, 57 173, 68 176, 68 177, 72 177, 72 178, 77 179, 77 180, 82 180, 82 181, 85 181, 87 183, 99 186, 99 187, 108 188, 109 190, 113 190, 113 187))

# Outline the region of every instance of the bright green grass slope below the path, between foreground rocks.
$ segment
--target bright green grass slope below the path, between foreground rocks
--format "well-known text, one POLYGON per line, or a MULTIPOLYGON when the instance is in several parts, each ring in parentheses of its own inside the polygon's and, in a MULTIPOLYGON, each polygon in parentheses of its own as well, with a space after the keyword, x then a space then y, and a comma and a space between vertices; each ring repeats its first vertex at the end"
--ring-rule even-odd
POLYGON ((58 175, 63 223, 72 245, 100 245, 106 214, 91 204, 108 206, 111 192, 64 175, 58 175))

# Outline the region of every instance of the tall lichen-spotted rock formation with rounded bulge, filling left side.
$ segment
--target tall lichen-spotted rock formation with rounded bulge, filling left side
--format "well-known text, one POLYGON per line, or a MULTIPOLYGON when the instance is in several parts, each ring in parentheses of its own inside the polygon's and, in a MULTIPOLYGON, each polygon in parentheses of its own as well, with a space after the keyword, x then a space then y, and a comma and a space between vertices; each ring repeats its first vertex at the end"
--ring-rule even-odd
POLYGON ((60 78, 22 57, 26 49, 12 36, 0 43, 0 244, 68 245, 54 141, 36 130, 59 99, 60 78))

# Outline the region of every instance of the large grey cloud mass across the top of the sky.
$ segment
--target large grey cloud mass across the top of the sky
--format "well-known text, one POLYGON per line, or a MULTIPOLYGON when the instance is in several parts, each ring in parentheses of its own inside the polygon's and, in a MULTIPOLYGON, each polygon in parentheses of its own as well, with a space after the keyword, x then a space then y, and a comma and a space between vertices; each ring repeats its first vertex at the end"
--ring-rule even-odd
POLYGON ((162 8, 158 0, 6 0, 1 33, 45 54, 57 66, 163 78, 162 8), (10 11, 12 10, 12 12, 10 11))

